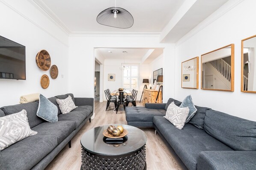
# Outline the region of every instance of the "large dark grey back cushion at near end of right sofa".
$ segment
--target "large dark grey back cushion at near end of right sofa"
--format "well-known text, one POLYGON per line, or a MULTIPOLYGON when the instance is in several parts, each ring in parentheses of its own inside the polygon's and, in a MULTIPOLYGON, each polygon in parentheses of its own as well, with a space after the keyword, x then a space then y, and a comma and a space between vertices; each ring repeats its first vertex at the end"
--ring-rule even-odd
POLYGON ((256 151, 256 122, 208 110, 205 131, 234 150, 256 151))

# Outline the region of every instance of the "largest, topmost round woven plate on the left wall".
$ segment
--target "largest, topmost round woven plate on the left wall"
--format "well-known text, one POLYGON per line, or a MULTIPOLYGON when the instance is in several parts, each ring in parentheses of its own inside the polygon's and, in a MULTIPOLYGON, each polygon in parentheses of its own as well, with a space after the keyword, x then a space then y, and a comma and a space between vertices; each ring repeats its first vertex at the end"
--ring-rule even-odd
POLYGON ((51 67, 51 57, 46 50, 41 50, 36 54, 36 65, 43 71, 51 67))

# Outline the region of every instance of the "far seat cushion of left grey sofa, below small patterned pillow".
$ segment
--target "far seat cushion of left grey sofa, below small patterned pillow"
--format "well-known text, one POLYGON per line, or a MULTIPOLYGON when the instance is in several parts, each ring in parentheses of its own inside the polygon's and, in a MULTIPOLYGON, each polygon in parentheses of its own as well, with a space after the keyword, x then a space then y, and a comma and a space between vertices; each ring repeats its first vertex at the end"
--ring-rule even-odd
POLYGON ((86 114, 83 111, 71 111, 67 114, 59 114, 59 121, 63 120, 71 120, 76 123, 76 129, 77 127, 83 122, 83 120, 86 119, 86 114))

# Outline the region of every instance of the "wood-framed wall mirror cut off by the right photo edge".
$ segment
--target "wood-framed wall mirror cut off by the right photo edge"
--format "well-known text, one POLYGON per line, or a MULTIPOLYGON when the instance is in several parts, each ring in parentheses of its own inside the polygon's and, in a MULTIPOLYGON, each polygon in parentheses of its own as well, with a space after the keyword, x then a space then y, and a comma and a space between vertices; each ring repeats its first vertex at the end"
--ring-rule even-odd
POLYGON ((241 41, 241 91, 256 93, 256 35, 241 41))

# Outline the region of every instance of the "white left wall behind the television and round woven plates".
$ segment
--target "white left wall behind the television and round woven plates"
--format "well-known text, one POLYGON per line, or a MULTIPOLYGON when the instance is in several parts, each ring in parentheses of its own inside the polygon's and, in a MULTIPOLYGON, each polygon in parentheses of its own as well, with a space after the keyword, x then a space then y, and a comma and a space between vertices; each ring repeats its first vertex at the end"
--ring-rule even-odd
POLYGON ((41 93, 45 97, 68 93, 68 35, 29 1, 0 1, 0 35, 26 46, 27 80, 0 79, 0 106, 19 103, 25 94, 41 93), (59 69, 57 79, 36 65, 36 54, 45 49, 51 64, 59 69), (47 74, 50 85, 43 89, 41 76, 47 74), (64 78, 62 78, 62 76, 64 78))

